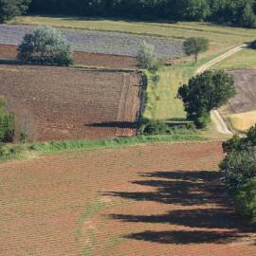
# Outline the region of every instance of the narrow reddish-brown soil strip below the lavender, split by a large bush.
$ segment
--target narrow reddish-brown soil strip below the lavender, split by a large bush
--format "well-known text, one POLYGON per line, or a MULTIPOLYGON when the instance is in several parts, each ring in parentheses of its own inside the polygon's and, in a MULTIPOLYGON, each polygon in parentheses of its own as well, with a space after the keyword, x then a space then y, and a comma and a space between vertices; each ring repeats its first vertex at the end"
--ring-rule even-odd
MULTIPOLYGON (((16 60, 17 46, 0 46, 0 59, 16 60)), ((137 59, 129 56, 75 51, 76 64, 109 68, 136 68, 137 59)))

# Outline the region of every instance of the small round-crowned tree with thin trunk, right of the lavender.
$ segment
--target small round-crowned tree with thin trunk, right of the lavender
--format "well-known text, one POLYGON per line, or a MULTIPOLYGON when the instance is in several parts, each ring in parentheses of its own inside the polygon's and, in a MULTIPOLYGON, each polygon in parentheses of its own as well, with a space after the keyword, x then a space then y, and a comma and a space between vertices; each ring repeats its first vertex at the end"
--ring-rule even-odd
POLYGON ((194 61, 197 63, 198 54, 209 49, 209 40, 202 37, 191 37, 184 42, 183 48, 187 55, 194 56, 194 61))

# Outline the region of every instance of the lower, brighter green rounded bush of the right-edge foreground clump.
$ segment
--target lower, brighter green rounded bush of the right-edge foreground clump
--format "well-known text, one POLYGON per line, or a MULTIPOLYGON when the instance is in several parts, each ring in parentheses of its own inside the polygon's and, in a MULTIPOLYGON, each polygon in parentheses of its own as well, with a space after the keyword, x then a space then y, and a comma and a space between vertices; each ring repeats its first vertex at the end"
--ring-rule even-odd
POLYGON ((235 207, 242 217, 256 224, 256 178, 249 179, 237 192, 235 207))

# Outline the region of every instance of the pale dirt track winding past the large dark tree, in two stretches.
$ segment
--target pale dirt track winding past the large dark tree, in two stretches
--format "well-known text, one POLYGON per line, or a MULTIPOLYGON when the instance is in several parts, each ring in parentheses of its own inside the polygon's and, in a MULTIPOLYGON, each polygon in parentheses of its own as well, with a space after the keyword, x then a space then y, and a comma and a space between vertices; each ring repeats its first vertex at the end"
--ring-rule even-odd
MULTIPOLYGON (((209 63, 207 64, 203 64, 201 65, 197 70, 196 70, 196 74, 201 74, 203 72, 205 72, 206 70, 210 69, 210 67, 214 64, 217 64, 227 58, 229 58, 231 55, 241 51, 243 48, 247 47, 247 45, 242 45, 242 46, 236 46, 234 48, 231 48, 228 52, 222 54, 221 56, 211 60, 209 63)), ((220 113, 217 110, 213 110, 210 113, 210 118, 214 123, 214 126, 216 127, 217 131, 220 134, 223 135, 232 135, 233 133, 229 130, 229 127, 227 125, 227 123, 225 122, 225 120, 221 117, 220 113)))

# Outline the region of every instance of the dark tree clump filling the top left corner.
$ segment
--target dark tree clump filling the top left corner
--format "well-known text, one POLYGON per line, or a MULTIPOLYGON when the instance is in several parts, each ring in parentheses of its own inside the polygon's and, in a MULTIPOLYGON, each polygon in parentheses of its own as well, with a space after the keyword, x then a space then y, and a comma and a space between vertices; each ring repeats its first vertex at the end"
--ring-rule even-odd
POLYGON ((0 22, 9 21, 17 15, 24 14, 30 0, 0 0, 0 22))

